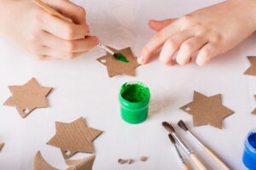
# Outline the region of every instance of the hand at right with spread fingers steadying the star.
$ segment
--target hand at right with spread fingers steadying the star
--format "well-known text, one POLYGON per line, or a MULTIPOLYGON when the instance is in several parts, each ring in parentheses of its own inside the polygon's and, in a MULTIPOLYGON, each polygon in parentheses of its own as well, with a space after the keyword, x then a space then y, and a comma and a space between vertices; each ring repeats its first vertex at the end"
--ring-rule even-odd
POLYGON ((206 65, 250 36, 256 27, 256 1, 230 0, 202 8, 176 20, 149 21, 158 31, 144 46, 138 62, 145 64, 158 49, 160 61, 172 65, 177 53, 179 65, 188 64, 192 54, 198 65, 206 65))

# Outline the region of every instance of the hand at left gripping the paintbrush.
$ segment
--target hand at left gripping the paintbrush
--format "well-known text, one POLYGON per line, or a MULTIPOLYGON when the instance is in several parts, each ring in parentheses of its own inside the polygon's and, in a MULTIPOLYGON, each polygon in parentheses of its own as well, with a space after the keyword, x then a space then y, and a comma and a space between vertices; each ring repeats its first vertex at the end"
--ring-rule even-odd
POLYGON ((47 3, 76 24, 46 13, 31 0, 8 0, 0 3, 0 34, 38 59, 71 59, 96 46, 97 37, 84 39, 89 32, 84 8, 67 0, 47 3))

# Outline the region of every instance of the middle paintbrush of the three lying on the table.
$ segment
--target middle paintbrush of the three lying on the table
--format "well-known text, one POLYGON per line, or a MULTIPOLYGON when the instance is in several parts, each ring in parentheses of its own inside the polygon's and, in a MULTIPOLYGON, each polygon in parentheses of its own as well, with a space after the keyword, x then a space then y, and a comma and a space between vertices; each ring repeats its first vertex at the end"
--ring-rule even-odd
POLYGON ((183 141, 183 139, 178 136, 178 134, 175 132, 175 129, 172 127, 172 125, 169 124, 168 122, 162 122, 162 125, 166 128, 167 131, 169 131, 173 135, 173 137, 177 140, 178 144, 181 145, 181 147, 189 155, 191 160, 194 161, 196 167, 198 167, 198 169, 200 170, 207 170, 207 167, 205 167, 205 165, 199 160, 199 158, 195 156, 195 153, 193 152, 193 150, 191 150, 189 146, 183 141))

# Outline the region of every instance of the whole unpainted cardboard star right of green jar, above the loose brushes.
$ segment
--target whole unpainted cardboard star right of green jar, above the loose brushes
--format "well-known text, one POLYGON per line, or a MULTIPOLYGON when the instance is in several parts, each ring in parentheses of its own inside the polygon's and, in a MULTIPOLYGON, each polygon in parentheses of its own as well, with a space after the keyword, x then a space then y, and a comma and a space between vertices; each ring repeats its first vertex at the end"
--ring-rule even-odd
POLYGON ((180 109, 193 116, 194 126, 211 125, 222 128, 223 119, 234 113, 229 108, 222 105, 221 94, 207 97, 198 92, 194 92, 193 101, 183 105, 180 109))

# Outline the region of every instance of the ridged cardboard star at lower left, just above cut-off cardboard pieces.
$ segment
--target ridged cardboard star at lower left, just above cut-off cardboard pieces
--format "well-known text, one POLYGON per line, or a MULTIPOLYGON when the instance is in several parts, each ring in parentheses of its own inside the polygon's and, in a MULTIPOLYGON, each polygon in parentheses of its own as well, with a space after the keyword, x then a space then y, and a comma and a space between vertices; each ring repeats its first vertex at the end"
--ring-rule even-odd
POLYGON ((92 142, 102 133, 87 127, 83 117, 71 123, 55 122, 55 128, 55 136, 47 144, 60 148, 65 159, 77 152, 92 153, 92 142))

